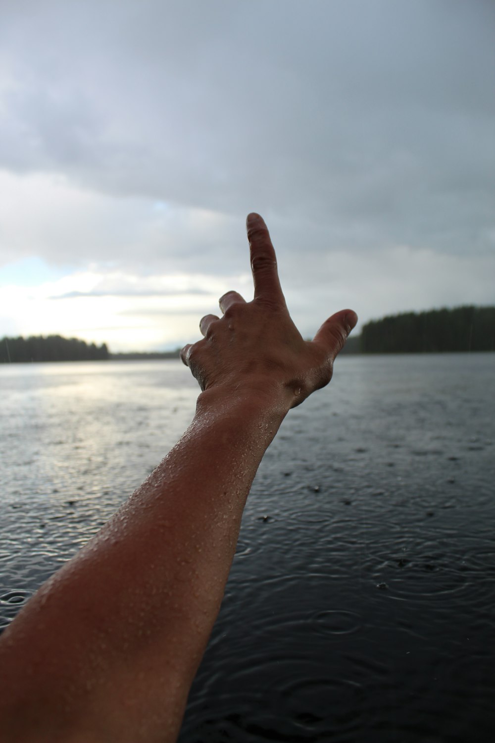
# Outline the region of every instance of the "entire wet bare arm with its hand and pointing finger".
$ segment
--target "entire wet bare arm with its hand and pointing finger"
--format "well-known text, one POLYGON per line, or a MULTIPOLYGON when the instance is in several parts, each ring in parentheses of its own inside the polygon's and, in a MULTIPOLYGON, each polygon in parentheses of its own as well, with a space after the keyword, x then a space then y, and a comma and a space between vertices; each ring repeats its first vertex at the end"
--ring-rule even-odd
POLYGON ((261 458, 357 322, 343 310, 303 340, 259 215, 247 232, 254 299, 226 293, 182 351, 202 389, 191 426, 0 637, 4 743, 177 739, 261 458))

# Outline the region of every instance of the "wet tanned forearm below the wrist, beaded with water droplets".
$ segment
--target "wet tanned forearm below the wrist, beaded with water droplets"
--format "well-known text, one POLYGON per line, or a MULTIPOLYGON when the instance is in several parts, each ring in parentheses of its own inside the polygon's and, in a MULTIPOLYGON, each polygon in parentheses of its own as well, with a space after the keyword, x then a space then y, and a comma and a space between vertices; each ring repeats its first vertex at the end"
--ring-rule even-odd
POLYGON ((0 642, 0 721, 18 707, 19 740, 31 739, 24 724, 33 741, 43 726, 50 742, 72 727, 95 741, 174 741, 287 408, 203 393, 177 447, 19 614, 0 642))

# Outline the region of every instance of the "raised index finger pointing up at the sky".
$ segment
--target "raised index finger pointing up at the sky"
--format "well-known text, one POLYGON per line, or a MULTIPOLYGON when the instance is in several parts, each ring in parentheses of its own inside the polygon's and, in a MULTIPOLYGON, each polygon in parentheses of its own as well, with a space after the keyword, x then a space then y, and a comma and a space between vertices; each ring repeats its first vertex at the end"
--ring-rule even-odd
POLYGON ((278 280, 277 258, 268 228, 259 214, 252 212, 246 219, 246 230, 251 253, 252 279, 255 284, 255 299, 283 302, 283 293, 278 280))

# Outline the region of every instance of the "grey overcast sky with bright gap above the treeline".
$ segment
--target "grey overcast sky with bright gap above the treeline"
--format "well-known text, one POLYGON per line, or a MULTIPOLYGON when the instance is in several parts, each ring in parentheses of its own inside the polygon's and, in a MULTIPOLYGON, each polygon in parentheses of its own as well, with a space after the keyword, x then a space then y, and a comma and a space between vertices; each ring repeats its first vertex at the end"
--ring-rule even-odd
POLYGON ((493 0, 1 3, 0 337, 197 340, 252 210, 305 337, 494 304, 494 39, 493 0))

